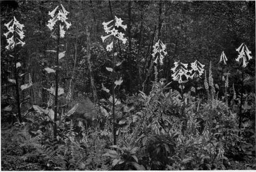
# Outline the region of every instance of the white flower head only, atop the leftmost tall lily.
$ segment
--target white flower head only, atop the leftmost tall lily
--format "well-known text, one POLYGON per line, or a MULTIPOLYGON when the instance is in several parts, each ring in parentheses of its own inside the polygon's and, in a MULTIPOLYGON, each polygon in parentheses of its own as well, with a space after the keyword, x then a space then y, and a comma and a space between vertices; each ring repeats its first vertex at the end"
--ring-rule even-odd
POLYGON ((4 33, 8 43, 8 46, 6 46, 5 48, 7 50, 10 50, 13 49, 15 45, 19 44, 23 47, 25 45, 25 42, 22 41, 22 39, 25 37, 23 31, 24 25, 20 24, 18 20, 15 17, 13 17, 13 19, 9 23, 5 24, 5 26, 8 29, 8 32, 4 33), (19 38, 15 36, 17 40, 14 40, 14 32, 16 32, 19 36, 19 38), (7 38, 10 33, 12 33, 13 35, 10 38, 7 38))

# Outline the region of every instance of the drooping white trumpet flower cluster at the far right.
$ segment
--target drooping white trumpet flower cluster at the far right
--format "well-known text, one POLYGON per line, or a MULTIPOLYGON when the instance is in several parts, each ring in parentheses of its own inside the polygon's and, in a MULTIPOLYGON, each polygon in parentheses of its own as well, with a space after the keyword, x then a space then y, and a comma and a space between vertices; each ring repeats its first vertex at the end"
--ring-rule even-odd
POLYGON ((242 67, 245 68, 248 64, 246 56, 247 56, 248 60, 250 60, 252 58, 252 56, 250 55, 251 51, 249 51, 249 49, 247 48, 247 46, 244 43, 242 43, 241 46, 238 49, 236 49, 236 51, 239 53, 238 58, 236 58, 236 60, 238 62, 240 62, 240 59, 243 59, 242 67))

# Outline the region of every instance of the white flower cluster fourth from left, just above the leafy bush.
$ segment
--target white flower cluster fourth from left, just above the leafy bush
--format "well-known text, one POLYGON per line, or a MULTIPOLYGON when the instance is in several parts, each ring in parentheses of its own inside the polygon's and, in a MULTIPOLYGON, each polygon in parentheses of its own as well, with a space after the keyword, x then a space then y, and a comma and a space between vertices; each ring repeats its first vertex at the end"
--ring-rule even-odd
POLYGON ((155 57, 155 55, 157 53, 158 56, 157 58, 155 59, 155 63, 157 63, 157 60, 159 59, 159 62, 160 62, 160 65, 163 65, 163 58, 164 56, 167 54, 167 52, 165 51, 166 49, 166 46, 163 44, 163 42, 159 39, 156 44, 153 46, 153 54, 152 56, 155 57))

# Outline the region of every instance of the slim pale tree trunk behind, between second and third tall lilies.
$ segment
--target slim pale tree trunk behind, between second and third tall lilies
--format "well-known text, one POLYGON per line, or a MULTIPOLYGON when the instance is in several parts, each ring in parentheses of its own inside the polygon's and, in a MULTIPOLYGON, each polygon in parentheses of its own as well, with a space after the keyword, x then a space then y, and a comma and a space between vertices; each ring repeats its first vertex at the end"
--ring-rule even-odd
POLYGON ((93 77, 93 70, 92 70, 92 63, 91 63, 91 38, 90 38, 90 30, 88 26, 86 26, 86 33, 87 33, 87 62, 88 62, 88 69, 89 69, 90 78, 91 78, 93 100, 95 103, 98 100, 98 96, 97 96, 97 90, 94 84, 94 77, 93 77))

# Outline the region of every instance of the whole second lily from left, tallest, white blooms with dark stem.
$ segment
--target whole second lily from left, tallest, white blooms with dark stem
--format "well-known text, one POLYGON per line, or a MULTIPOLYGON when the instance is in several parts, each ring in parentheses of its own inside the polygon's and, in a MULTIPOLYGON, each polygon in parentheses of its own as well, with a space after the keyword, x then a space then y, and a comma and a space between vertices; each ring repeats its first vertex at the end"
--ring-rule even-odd
MULTIPOLYGON (((53 11, 49 11, 49 15, 52 17, 48 20, 47 27, 50 30, 53 30, 54 26, 57 25, 57 50, 56 50, 56 61, 55 61, 55 104, 54 104, 54 127, 53 127, 53 136, 54 139, 57 137, 57 113, 58 113, 58 95, 61 93, 59 92, 60 89, 58 89, 58 72, 59 72, 59 59, 65 56, 65 52, 59 53, 59 45, 60 45, 60 38, 65 37, 66 31, 64 30, 64 26, 66 26, 67 29, 71 26, 70 23, 67 22, 67 15, 69 12, 60 4, 61 9, 58 11, 58 13, 55 15, 56 10, 59 8, 57 6, 53 11)), ((55 32, 55 30, 53 31, 55 32)))

